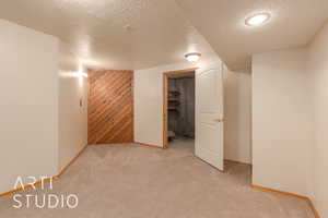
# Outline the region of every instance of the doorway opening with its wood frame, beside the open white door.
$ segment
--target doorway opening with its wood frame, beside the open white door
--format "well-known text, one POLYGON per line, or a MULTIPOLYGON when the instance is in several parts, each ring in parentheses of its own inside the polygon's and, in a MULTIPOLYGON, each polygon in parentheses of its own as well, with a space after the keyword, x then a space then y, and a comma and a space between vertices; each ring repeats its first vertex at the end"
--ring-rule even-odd
POLYGON ((164 73, 164 148, 195 147, 195 71, 164 73))

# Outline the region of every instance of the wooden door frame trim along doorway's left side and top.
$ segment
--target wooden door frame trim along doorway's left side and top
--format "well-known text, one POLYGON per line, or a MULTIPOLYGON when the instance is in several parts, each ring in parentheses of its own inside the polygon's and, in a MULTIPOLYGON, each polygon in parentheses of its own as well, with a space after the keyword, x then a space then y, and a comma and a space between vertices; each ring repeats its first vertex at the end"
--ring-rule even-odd
POLYGON ((176 75, 181 73, 195 73, 198 68, 177 70, 177 71, 168 71, 163 73, 163 148, 167 148, 168 140, 168 130, 167 130, 167 100, 168 100, 168 76, 176 75))

